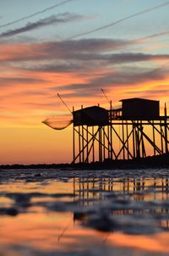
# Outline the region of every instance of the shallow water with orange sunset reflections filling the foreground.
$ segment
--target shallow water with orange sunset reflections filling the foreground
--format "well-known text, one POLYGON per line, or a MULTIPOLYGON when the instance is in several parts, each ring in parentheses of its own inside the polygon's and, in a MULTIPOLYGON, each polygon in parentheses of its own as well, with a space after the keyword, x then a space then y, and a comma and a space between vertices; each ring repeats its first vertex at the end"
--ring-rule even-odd
POLYGON ((169 255, 169 170, 1 170, 0 256, 169 255))

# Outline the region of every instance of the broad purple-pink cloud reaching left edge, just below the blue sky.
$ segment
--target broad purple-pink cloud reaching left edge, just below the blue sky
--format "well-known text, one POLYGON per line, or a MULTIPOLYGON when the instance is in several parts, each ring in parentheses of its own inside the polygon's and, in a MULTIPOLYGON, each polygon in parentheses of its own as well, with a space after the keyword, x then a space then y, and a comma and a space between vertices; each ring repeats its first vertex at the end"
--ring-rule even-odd
POLYGON ((70 40, 64 42, 4 44, 0 47, 0 61, 20 62, 58 59, 91 59, 96 53, 126 48, 133 42, 123 40, 70 40), (90 56, 89 56, 90 53, 90 56))

